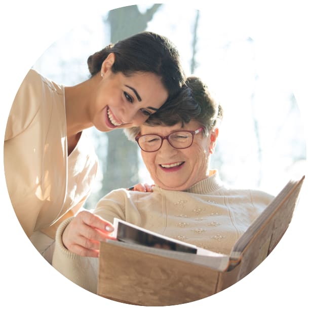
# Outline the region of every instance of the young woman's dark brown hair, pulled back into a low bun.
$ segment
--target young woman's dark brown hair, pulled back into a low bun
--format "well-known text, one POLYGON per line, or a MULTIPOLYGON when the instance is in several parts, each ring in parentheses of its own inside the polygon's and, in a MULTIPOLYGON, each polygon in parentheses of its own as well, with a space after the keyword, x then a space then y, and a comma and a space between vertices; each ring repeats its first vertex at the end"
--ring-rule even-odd
POLYGON ((138 71, 154 73, 160 76, 169 98, 173 98, 185 83, 179 53, 163 35, 144 31, 108 45, 89 56, 87 63, 91 76, 100 72, 102 62, 110 53, 115 55, 112 72, 127 76, 138 71))

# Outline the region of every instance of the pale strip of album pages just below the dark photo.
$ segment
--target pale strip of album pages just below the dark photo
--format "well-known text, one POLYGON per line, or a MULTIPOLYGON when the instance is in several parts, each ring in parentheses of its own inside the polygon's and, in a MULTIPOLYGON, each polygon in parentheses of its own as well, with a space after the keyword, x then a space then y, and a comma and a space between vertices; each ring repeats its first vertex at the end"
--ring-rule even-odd
POLYGON ((134 244, 134 243, 127 243, 127 242, 120 242, 115 240, 106 240, 107 243, 114 244, 118 247, 133 249, 139 252, 145 252, 149 254, 154 254, 162 257, 177 259, 197 265, 203 265, 206 267, 210 267, 212 269, 218 270, 218 271, 224 271, 226 270, 229 262, 229 256, 224 254, 218 254, 215 252, 207 251, 210 255, 199 255, 199 254, 193 254, 193 253, 185 253, 185 252, 179 252, 175 250, 167 250, 163 248, 156 248, 156 247, 149 247, 145 245, 140 244, 134 244))

